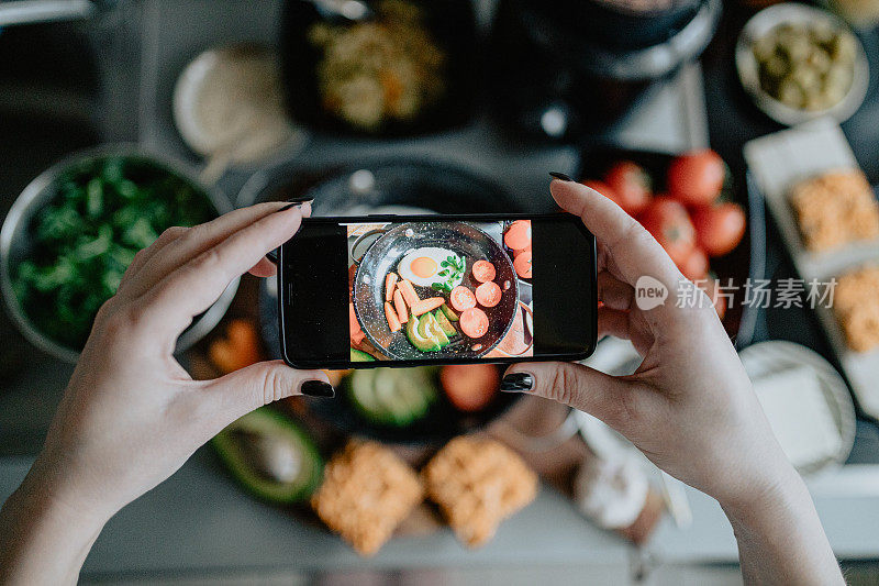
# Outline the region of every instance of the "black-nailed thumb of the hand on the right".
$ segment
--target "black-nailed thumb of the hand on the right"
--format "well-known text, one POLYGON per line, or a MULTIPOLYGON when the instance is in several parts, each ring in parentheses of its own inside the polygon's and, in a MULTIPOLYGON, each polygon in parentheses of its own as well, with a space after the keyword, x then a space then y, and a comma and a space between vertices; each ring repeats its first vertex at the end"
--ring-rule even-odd
POLYGON ((635 389, 630 383, 576 363, 514 364, 504 374, 501 390, 558 401, 617 430, 626 428, 634 416, 635 389))

